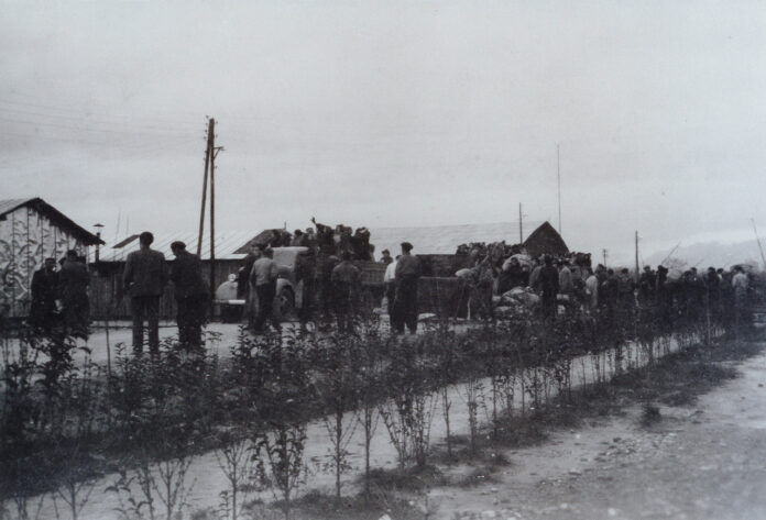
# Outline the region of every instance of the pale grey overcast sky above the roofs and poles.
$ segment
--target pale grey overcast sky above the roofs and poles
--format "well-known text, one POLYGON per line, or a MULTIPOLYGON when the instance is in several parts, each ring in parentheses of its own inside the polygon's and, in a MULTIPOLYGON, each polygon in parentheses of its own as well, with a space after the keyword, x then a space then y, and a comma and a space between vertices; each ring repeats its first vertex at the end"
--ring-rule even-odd
POLYGON ((196 230, 209 115, 219 230, 558 225, 558 144, 572 248, 752 239, 764 27, 756 1, 6 2, 0 191, 196 230))

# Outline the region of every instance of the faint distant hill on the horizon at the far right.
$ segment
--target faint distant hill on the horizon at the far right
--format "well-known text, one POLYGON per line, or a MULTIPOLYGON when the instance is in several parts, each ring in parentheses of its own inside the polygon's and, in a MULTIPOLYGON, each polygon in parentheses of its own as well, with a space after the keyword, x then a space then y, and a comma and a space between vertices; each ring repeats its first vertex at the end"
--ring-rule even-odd
MULTIPOLYGON (((763 241, 762 244, 764 244, 763 241)), ((644 258, 644 263, 654 267, 667 258, 670 251, 665 250, 654 253, 648 258, 644 258)), ((733 244, 703 242, 681 245, 672 252, 671 258, 676 262, 685 262, 689 267, 697 266, 697 268, 707 268, 709 266, 731 267, 736 264, 754 264, 758 268, 763 267, 758 243, 755 240, 733 244)))

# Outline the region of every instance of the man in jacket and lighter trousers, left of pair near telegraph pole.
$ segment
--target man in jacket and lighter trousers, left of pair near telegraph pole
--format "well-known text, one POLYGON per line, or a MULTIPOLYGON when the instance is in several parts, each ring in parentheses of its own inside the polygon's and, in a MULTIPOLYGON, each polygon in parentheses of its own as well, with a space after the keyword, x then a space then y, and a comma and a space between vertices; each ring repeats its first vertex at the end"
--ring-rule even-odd
POLYGON ((154 235, 144 231, 139 236, 141 248, 128 255, 122 274, 123 287, 130 294, 133 314, 133 350, 143 351, 143 322, 149 322, 149 351, 160 353, 160 297, 167 284, 165 255, 150 247, 154 235))

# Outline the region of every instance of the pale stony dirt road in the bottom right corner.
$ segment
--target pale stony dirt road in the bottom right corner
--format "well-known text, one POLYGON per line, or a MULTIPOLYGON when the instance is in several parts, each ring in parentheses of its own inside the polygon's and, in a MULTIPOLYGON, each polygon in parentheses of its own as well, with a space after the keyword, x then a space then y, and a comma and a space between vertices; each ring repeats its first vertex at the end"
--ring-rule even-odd
POLYGON ((766 355, 685 407, 637 405, 506 452, 511 465, 469 489, 434 489, 435 518, 766 519, 766 355))

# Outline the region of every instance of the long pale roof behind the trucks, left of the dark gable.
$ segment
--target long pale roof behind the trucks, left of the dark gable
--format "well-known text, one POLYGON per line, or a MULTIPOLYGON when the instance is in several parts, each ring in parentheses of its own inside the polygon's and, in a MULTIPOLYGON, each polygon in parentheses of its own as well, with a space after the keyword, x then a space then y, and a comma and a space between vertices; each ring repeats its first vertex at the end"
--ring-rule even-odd
MULTIPOLYGON (((537 222, 525 222, 525 232, 537 222)), ((370 243, 375 245, 375 257, 380 258, 383 250, 391 251, 392 256, 401 252, 402 242, 412 243, 413 253, 422 255, 452 255, 460 244, 470 242, 518 243, 518 222, 496 222, 490 224, 435 225, 424 228, 380 228, 370 230, 370 243)))

